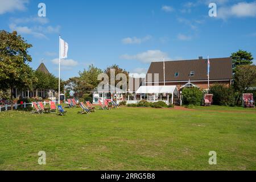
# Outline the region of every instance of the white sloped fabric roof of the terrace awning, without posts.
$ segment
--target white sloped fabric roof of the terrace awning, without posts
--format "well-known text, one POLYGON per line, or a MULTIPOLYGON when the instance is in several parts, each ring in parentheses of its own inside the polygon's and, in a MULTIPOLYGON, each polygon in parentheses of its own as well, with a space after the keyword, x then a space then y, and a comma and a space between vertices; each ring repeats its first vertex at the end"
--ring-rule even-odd
POLYGON ((174 93, 177 91, 177 87, 175 85, 170 85, 170 86, 141 86, 137 90, 137 94, 141 93, 174 93))

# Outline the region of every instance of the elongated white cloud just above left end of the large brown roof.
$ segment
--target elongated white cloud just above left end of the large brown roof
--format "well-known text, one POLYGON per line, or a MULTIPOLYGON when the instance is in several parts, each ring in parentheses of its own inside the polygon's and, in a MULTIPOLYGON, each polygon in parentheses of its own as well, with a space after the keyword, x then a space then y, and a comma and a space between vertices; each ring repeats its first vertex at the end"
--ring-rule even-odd
POLYGON ((121 59, 138 60, 142 63, 151 63, 152 61, 162 61, 168 59, 168 54, 160 50, 148 50, 146 52, 138 53, 137 55, 121 55, 121 59))

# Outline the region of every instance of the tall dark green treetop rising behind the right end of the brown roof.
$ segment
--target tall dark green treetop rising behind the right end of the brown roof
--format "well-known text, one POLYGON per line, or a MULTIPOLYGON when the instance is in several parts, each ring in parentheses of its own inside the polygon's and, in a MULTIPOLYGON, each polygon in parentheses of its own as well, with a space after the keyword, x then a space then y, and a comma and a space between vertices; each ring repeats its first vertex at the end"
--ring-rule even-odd
POLYGON ((240 65, 250 65, 253 64, 253 55, 250 52, 239 50, 237 52, 233 52, 232 55, 232 63, 233 63, 233 72, 236 72, 237 67, 240 65))

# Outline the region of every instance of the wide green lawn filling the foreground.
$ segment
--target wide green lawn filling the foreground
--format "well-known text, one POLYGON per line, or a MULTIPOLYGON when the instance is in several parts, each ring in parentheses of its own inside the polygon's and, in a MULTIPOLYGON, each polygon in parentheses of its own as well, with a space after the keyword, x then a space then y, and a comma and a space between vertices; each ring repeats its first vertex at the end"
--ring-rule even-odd
POLYGON ((0 113, 0 169, 256 170, 255 109, 67 110, 65 117, 0 113), (217 165, 209 165, 209 151, 217 165))

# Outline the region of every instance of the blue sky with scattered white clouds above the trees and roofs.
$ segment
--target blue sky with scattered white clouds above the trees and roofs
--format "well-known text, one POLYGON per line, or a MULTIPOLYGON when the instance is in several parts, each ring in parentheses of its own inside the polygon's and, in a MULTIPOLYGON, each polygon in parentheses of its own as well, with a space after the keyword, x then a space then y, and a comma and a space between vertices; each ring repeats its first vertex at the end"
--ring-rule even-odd
POLYGON ((238 49, 256 56, 256 1, 249 0, 0 0, 0 26, 33 45, 32 68, 44 59, 56 76, 61 34, 69 44, 61 63, 64 80, 89 64, 118 64, 143 76, 151 61, 163 57, 228 57, 238 49), (46 4, 45 18, 38 16, 40 2, 46 4), (208 15, 209 2, 216 3, 217 17, 208 15))

